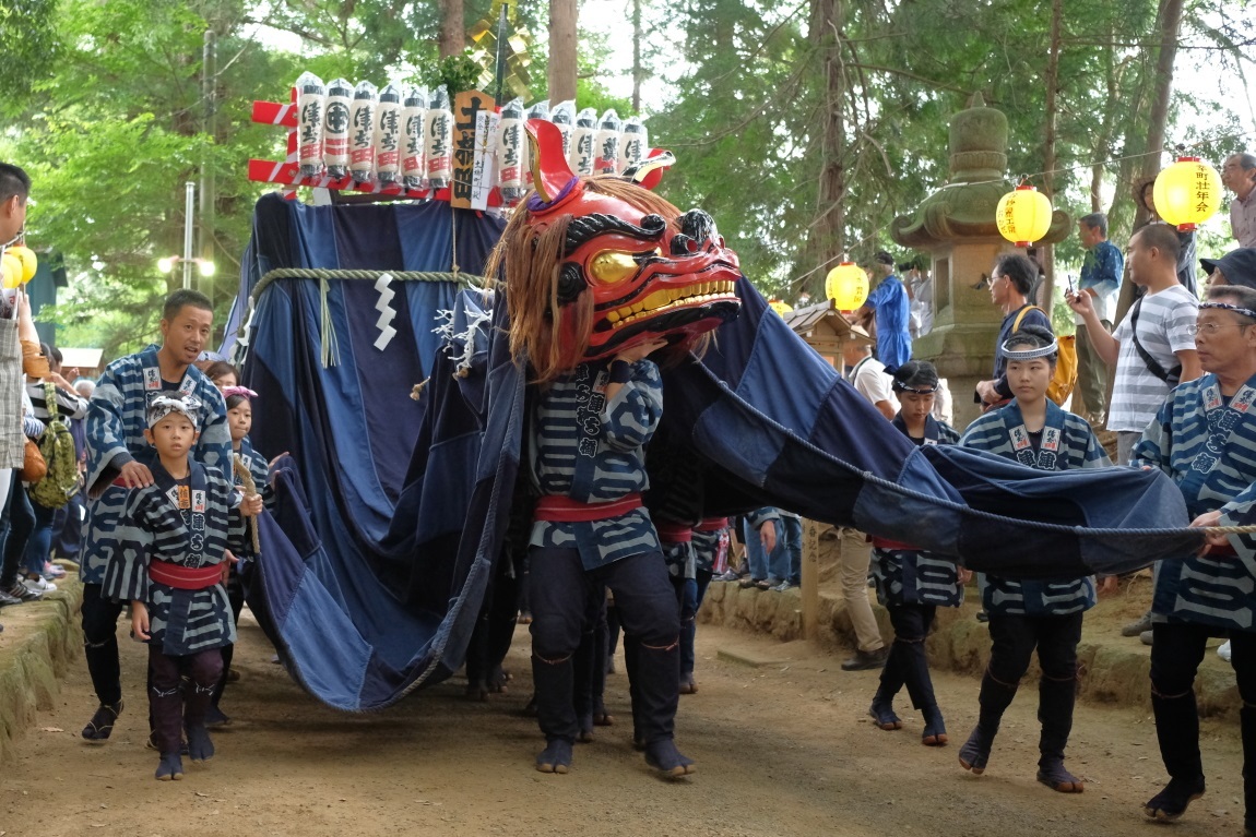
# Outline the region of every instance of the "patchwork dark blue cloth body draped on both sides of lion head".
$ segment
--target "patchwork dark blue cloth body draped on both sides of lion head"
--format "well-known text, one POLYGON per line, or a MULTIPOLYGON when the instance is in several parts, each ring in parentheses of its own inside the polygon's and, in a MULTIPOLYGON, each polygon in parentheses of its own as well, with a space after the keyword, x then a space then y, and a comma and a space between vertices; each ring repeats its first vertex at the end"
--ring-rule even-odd
MULTIPOLYGON (((479 272, 500 233, 491 218, 263 198, 241 299, 276 267, 446 270, 455 218, 462 270, 479 272)), ((1159 473, 1045 474, 916 448, 747 281, 739 295, 742 314, 712 349, 664 373, 659 432, 706 473, 705 512, 780 506, 1024 577, 1122 572, 1201 543, 1150 531, 1188 522, 1159 473)), ((452 281, 280 279, 256 299, 252 440, 290 456, 249 602, 293 676, 332 706, 383 708, 462 664, 519 477, 526 387, 506 326, 491 292, 452 281)))

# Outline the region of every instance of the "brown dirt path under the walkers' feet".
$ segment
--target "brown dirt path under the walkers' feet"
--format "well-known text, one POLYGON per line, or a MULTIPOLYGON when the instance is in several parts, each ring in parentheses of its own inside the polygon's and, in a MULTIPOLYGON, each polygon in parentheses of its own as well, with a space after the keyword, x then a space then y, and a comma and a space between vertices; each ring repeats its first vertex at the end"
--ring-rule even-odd
MULTIPOLYGON (((848 674, 801 642, 702 626, 697 695, 683 696, 678 742, 700 772, 656 779, 629 745, 627 683, 612 675, 608 703, 620 723, 578 745, 565 777, 531 768, 535 722, 519 714, 529 693, 526 634, 509 666, 511 693, 462 699, 460 679, 374 715, 318 705, 269 664, 270 648, 245 615, 236 653, 241 681, 224 708, 236 719, 216 735, 219 755, 188 765, 185 781, 152 779, 144 749, 143 649, 123 642, 128 709, 113 739, 84 744, 93 700, 79 663, 53 712, 0 768, 0 834, 1104 834, 1148 837, 1139 807, 1164 779, 1150 719, 1132 710, 1079 708, 1070 767, 1086 793, 1056 794, 1034 781, 1036 689, 1022 686, 986 776, 956 763, 975 720, 977 684, 938 675, 951 747, 919 745, 919 718, 902 732, 864 717, 875 673, 848 674), (737 651, 776 665, 720 659, 737 651)), ((622 663, 620 663, 622 671, 622 663)), ((1232 724, 1205 724, 1208 794, 1173 837, 1242 833, 1240 745, 1232 724)), ((1157 834, 1161 832, 1156 832, 1157 834)), ((1153 836, 1154 837, 1154 836, 1153 836)))

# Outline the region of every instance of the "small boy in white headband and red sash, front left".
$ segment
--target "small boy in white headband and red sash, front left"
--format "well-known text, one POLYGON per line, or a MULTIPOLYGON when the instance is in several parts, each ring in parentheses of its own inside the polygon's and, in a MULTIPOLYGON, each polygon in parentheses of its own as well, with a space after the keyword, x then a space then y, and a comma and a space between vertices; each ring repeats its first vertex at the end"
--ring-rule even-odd
POLYGON ((127 496, 116 532, 119 546, 100 591, 131 604, 134 637, 148 642, 161 781, 183 776, 183 732, 193 762, 214 755, 205 712, 222 675, 221 649, 235 641, 222 582, 227 550, 242 542, 241 514, 261 511, 260 497, 241 499, 221 472, 188 457, 198 435, 198 407, 190 397, 168 395, 149 405, 153 482, 127 496))

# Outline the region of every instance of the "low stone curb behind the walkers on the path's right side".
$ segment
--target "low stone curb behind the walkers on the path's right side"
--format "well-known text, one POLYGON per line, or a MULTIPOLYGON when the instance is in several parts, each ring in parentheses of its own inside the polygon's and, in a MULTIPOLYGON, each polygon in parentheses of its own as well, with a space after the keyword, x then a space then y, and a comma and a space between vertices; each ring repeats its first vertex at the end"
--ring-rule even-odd
MULTIPOLYGON (((971 592, 971 591, 970 591, 971 592)), ((928 639, 929 666, 980 676, 990 661, 990 632, 976 614, 976 596, 970 595, 963 607, 938 607, 937 621, 928 639)), ((1100 602, 1099 605, 1104 605, 1100 602)), ((873 615, 883 637, 893 637, 889 614, 873 601, 873 615)), ((803 639, 803 599, 798 589, 785 592, 741 589, 731 582, 712 582, 707 589, 698 621, 723 625, 760 635, 771 635, 788 642, 803 639)), ((1078 645, 1081 665, 1079 695, 1083 700, 1115 704, 1150 713, 1150 656, 1137 639, 1110 641, 1083 626, 1078 645)), ((847 616, 845 602, 834 592, 820 591, 819 635, 816 642, 833 654, 849 654, 854 648, 854 631, 847 616)), ((1025 675, 1024 685, 1039 676, 1035 656, 1025 675)), ((1242 700, 1233 669, 1211 648, 1196 679, 1196 698, 1203 717, 1238 720, 1242 700)))

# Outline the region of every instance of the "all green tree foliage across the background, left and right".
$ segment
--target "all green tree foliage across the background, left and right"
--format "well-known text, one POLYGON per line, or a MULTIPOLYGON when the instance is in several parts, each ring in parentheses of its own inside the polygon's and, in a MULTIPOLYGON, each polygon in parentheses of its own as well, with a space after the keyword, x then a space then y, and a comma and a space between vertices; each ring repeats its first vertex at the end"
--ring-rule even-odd
MULTIPOLYGON (((1055 202, 1074 216, 1109 211, 1119 237, 1133 221, 1130 186, 1148 152, 1167 0, 1059 1, 1055 202)), ((1213 89, 1198 95, 1199 85, 1216 87, 1205 80, 1216 72, 1225 84, 1246 87, 1246 53, 1256 43, 1251 5, 1186 0, 1178 67, 1205 70, 1174 87, 1169 143, 1215 161, 1252 147, 1248 117, 1216 104, 1213 89)), ((202 167, 216 183, 219 275, 208 290, 225 309, 252 205, 266 189, 245 178, 245 161, 284 153, 283 132, 250 122, 251 102, 283 98, 306 69, 325 79, 417 79, 436 65, 442 8, 407 0, 0 5, 0 159, 35 179, 30 243, 65 255, 72 286, 49 315, 62 341, 112 355, 153 334, 168 281, 156 264, 181 250, 183 183, 197 181, 202 167), (217 50, 208 80, 206 31, 217 50)), ((490 0, 466 0, 465 26, 490 8, 490 0)), ((539 41, 538 99, 545 97, 548 8, 528 0, 519 9, 539 41)), ((609 36, 582 28, 582 107, 631 110, 627 97, 608 92, 608 67, 636 40, 636 77, 667 90, 649 118, 651 136, 681 157, 663 192, 708 210, 765 290, 815 290, 835 251, 867 259, 892 245, 891 221, 946 181, 947 119, 976 92, 1009 117, 1009 173, 1041 184, 1051 46, 1044 4, 638 0, 619 11, 624 23, 609 36), (838 197, 831 184, 821 187, 821 173, 834 171, 838 197)), ((1061 256, 1075 250, 1068 243, 1061 256)))

